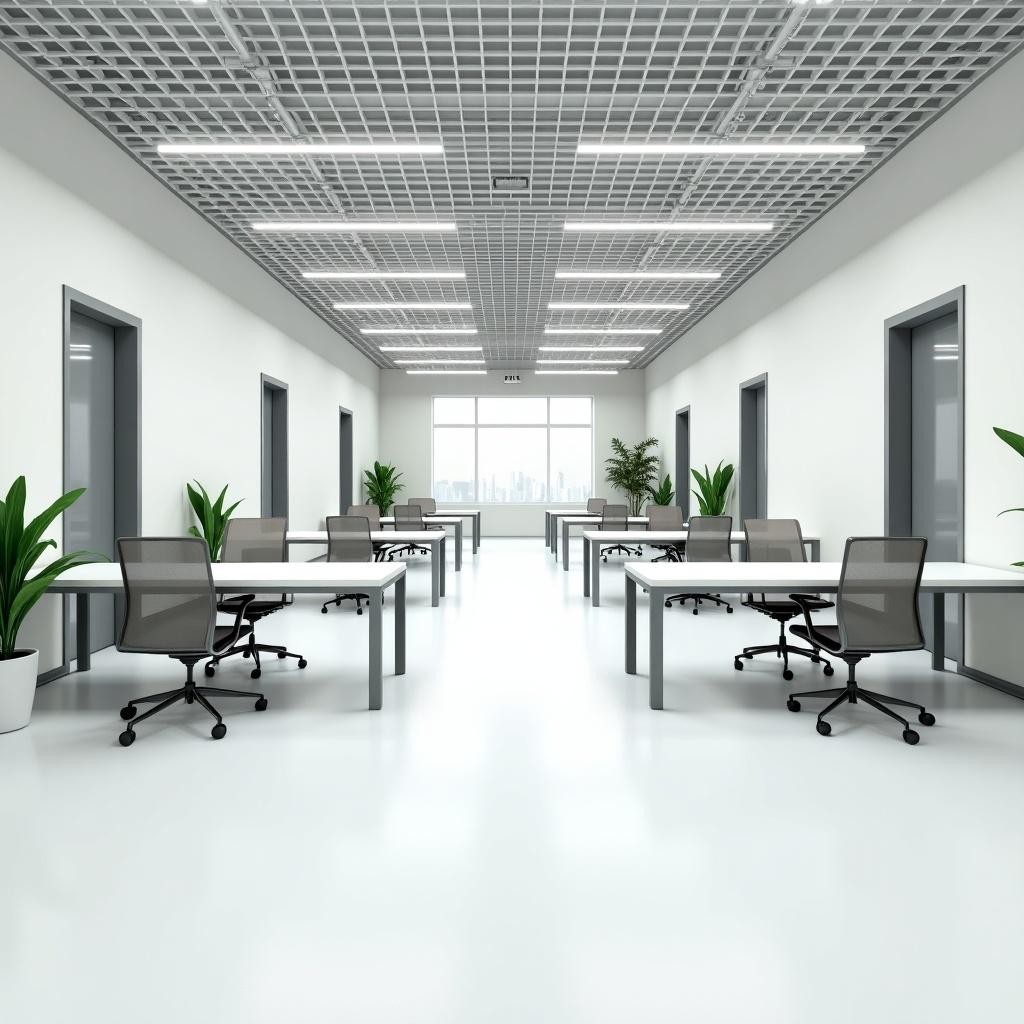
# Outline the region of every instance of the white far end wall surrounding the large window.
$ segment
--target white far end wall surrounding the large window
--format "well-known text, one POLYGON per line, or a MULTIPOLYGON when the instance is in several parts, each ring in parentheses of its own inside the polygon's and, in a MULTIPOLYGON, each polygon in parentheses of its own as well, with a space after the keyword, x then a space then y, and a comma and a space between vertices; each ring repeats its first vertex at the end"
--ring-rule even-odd
MULTIPOLYGON (((406 495, 431 493, 431 399, 435 394, 589 394, 594 396, 595 489, 609 493, 604 459, 609 441, 636 443, 644 434, 643 375, 625 371, 615 377, 535 377, 505 384, 503 374, 486 377, 411 377, 398 370, 381 372, 381 459, 404 474, 406 495)), ((545 505, 481 505, 481 529, 489 537, 541 537, 545 505)))

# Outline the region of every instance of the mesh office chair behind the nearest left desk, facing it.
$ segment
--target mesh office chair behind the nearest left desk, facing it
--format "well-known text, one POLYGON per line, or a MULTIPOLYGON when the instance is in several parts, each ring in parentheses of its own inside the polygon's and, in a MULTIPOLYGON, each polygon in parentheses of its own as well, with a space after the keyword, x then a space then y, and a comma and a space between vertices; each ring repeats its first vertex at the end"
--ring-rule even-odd
MULTIPOLYGON (((224 543, 220 547, 220 560, 222 562, 287 562, 288 555, 285 546, 285 535, 288 532, 288 520, 284 516, 265 519, 239 518, 231 519, 224 530, 224 543)), ((217 666, 225 657, 232 657, 241 654, 244 658, 252 658, 255 668, 249 673, 250 679, 259 679, 263 674, 263 666, 260 663, 260 653, 276 654, 284 660, 286 657, 298 658, 299 668, 306 667, 306 659, 301 654, 290 651, 280 644, 266 644, 256 642, 256 624, 260 620, 272 615, 275 611, 281 611, 287 607, 287 594, 282 594, 280 598, 271 600, 251 601, 245 608, 243 615, 251 629, 242 644, 232 644, 227 650, 218 653, 203 667, 207 676, 212 676, 217 666)), ((238 612, 240 599, 237 597, 223 598, 217 603, 217 610, 225 614, 233 615, 238 612)))

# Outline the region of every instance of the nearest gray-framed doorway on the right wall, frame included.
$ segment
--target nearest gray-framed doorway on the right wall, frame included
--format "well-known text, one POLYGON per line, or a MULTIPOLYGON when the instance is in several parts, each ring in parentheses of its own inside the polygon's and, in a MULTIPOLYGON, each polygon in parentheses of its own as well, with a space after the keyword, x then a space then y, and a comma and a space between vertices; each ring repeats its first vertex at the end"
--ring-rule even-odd
MULTIPOLYGON (((964 290, 886 321, 886 532, 964 560, 964 290)), ((945 657, 964 662, 964 599, 946 600, 945 657)), ((931 606, 922 608, 932 650, 931 606)))

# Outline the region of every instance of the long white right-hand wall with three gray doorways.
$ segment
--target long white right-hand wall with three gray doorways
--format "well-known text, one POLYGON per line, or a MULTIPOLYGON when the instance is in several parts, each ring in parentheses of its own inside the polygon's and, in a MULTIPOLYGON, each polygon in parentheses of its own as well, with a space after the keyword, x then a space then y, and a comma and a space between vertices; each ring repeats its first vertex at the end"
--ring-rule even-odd
MULTIPOLYGON (((950 113, 647 368, 647 427, 690 407, 691 463, 735 462, 738 384, 768 374, 768 511, 820 531, 823 558, 883 529, 884 330, 966 288, 966 557, 1024 558, 1024 57, 950 113)), ((1024 601, 972 598, 967 662, 1024 684, 1024 601)))

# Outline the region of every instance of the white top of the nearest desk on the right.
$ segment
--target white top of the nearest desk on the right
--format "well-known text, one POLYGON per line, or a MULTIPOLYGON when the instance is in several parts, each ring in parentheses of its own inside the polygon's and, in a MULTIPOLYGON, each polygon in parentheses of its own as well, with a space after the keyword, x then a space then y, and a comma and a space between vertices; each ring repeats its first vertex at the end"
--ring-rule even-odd
MULTIPOLYGON (((607 536, 607 535, 605 535, 607 536)), ((634 538, 638 535, 634 535, 634 538)), ((680 591, 818 593, 839 586, 842 562, 627 562, 626 574, 641 587, 680 591)), ((969 562, 926 562, 921 580, 933 591, 1024 592, 1024 572, 969 562)))

